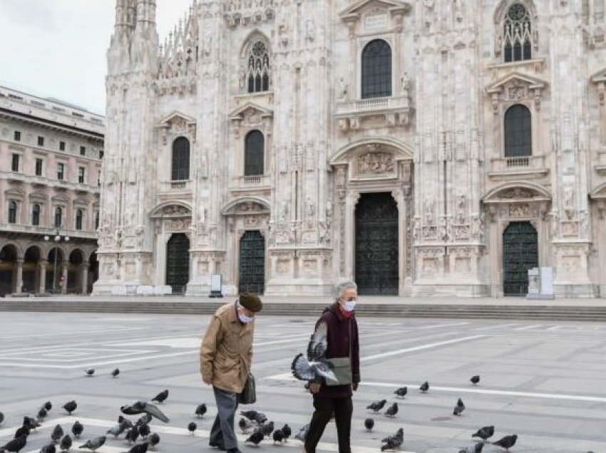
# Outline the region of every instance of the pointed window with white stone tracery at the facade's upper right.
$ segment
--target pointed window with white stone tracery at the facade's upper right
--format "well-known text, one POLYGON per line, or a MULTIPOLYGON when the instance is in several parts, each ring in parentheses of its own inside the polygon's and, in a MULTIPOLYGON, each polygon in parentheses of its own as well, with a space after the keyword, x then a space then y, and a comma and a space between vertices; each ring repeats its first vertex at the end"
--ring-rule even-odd
POLYGON ((533 36, 530 14, 519 3, 509 7, 503 24, 503 58, 505 62, 530 60, 533 36))

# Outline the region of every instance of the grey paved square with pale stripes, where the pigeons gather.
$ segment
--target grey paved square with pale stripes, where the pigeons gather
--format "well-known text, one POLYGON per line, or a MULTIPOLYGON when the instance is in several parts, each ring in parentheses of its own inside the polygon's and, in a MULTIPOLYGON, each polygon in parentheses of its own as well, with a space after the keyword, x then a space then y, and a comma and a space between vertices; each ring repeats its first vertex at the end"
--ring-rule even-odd
MULTIPOLYGON (((310 313, 312 314, 312 313, 310 313)), ((120 405, 149 400, 168 388, 163 410, 170 423, 152 424, 162 440, 158 452, 216 452, 207 446, 216 413, 210 387, 198 373, 198 347, 208 316, 107 315, 82 313, 2 313, 0 331, 0 410, 6 415, 0 442, 7 442, 24 415, 36 415, 46 400, 50 416, 29 437, 25 453, 38 452, 60 423, 85 425, 83 439, 115 425, 120 405), (84 369, 96 368, 94 377, 84 369), (110 377, 120 368, 117 379, 110 377), (61 410, 78 402, 69 417, 61 410), (197 404, 209 410, 195 420, 197 404)), ((253 371, 257 404, 275 425, 298 431, 309 422, 311 397, 292 379, 289 365, 307 345, 315 316, 289 319, 260 316, 255 334, 253 371)), ((404 428, 402 451, 448 453, 472 444, 471 434, 495 425, 494 440, 518 434, 513 452, 606 452, 606 326, 601 323, 461 321, 359 318, 362 385, 354 396, 354 453, 379 452, 380 440, 404 428), (474 386, 472 375, 481 375, 474 386), (428 380, 427 394, 418 385, 428 380), (397 387, 409 394, 396 400, 397 387), (461 397, 466 411, 452 415, 461 397), (371 415, 374 400, 399 402, 394 419, 371 415), (374 417, 372 432, 364 418, 374 417)), ((134 418, 134 417, 133 417, 134 418)), ((123 436, 122 436, 123 437, 123 436)), ((99 452, 124 452, 122 437, 108 439, 99 452)), ((240 437, 242 441, 245 436, 240 437)), ((319 450, 337 452, 334 424, 319 450)), ((300 452, 301 442, 260 448, 241 444, 243 452, 300 452)), ((76 451, 73 449, 72 451, 76 451)), ((484 452, 503 451, 486 446, 484 452)))

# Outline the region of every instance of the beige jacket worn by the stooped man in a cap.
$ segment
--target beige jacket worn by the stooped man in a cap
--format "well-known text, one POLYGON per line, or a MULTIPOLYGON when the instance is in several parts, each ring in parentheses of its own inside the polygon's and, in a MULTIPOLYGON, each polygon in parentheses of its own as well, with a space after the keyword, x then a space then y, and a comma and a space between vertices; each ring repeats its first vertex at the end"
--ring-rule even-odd
POLYGON ((242 392, 252 365, 255 321, 245 325, 235 303, 227 303, 212 316, 200 347, 200 374, 228 392, 242 392))

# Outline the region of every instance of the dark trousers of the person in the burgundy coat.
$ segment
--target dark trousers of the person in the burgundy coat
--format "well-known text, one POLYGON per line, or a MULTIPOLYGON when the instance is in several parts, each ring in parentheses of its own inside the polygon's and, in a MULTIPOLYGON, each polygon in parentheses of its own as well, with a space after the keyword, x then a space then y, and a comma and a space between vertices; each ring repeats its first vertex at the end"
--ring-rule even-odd
POLYGON ((337 425, 337 437, 339 438, 339 453, 351 453, 349 437, 351 434, 351 414, 354 405, 351 397, 346 398, 322 398, 314 395, 314 415, 309 424, 309 434, 305 439, 305 452, 316 453, 316 447, 324 428, 334 412, 334 422, 337 425))

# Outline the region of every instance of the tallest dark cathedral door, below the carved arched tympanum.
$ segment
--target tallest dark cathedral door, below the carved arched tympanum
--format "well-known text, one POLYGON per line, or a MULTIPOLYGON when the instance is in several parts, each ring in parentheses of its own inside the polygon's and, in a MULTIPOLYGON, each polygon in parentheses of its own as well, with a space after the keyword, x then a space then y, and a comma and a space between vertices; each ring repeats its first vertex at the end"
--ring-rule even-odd
POLYGON ((398 294, 398 207, 390 192, 361 194, 356 206, 356 283, 366 296, 398 294))

